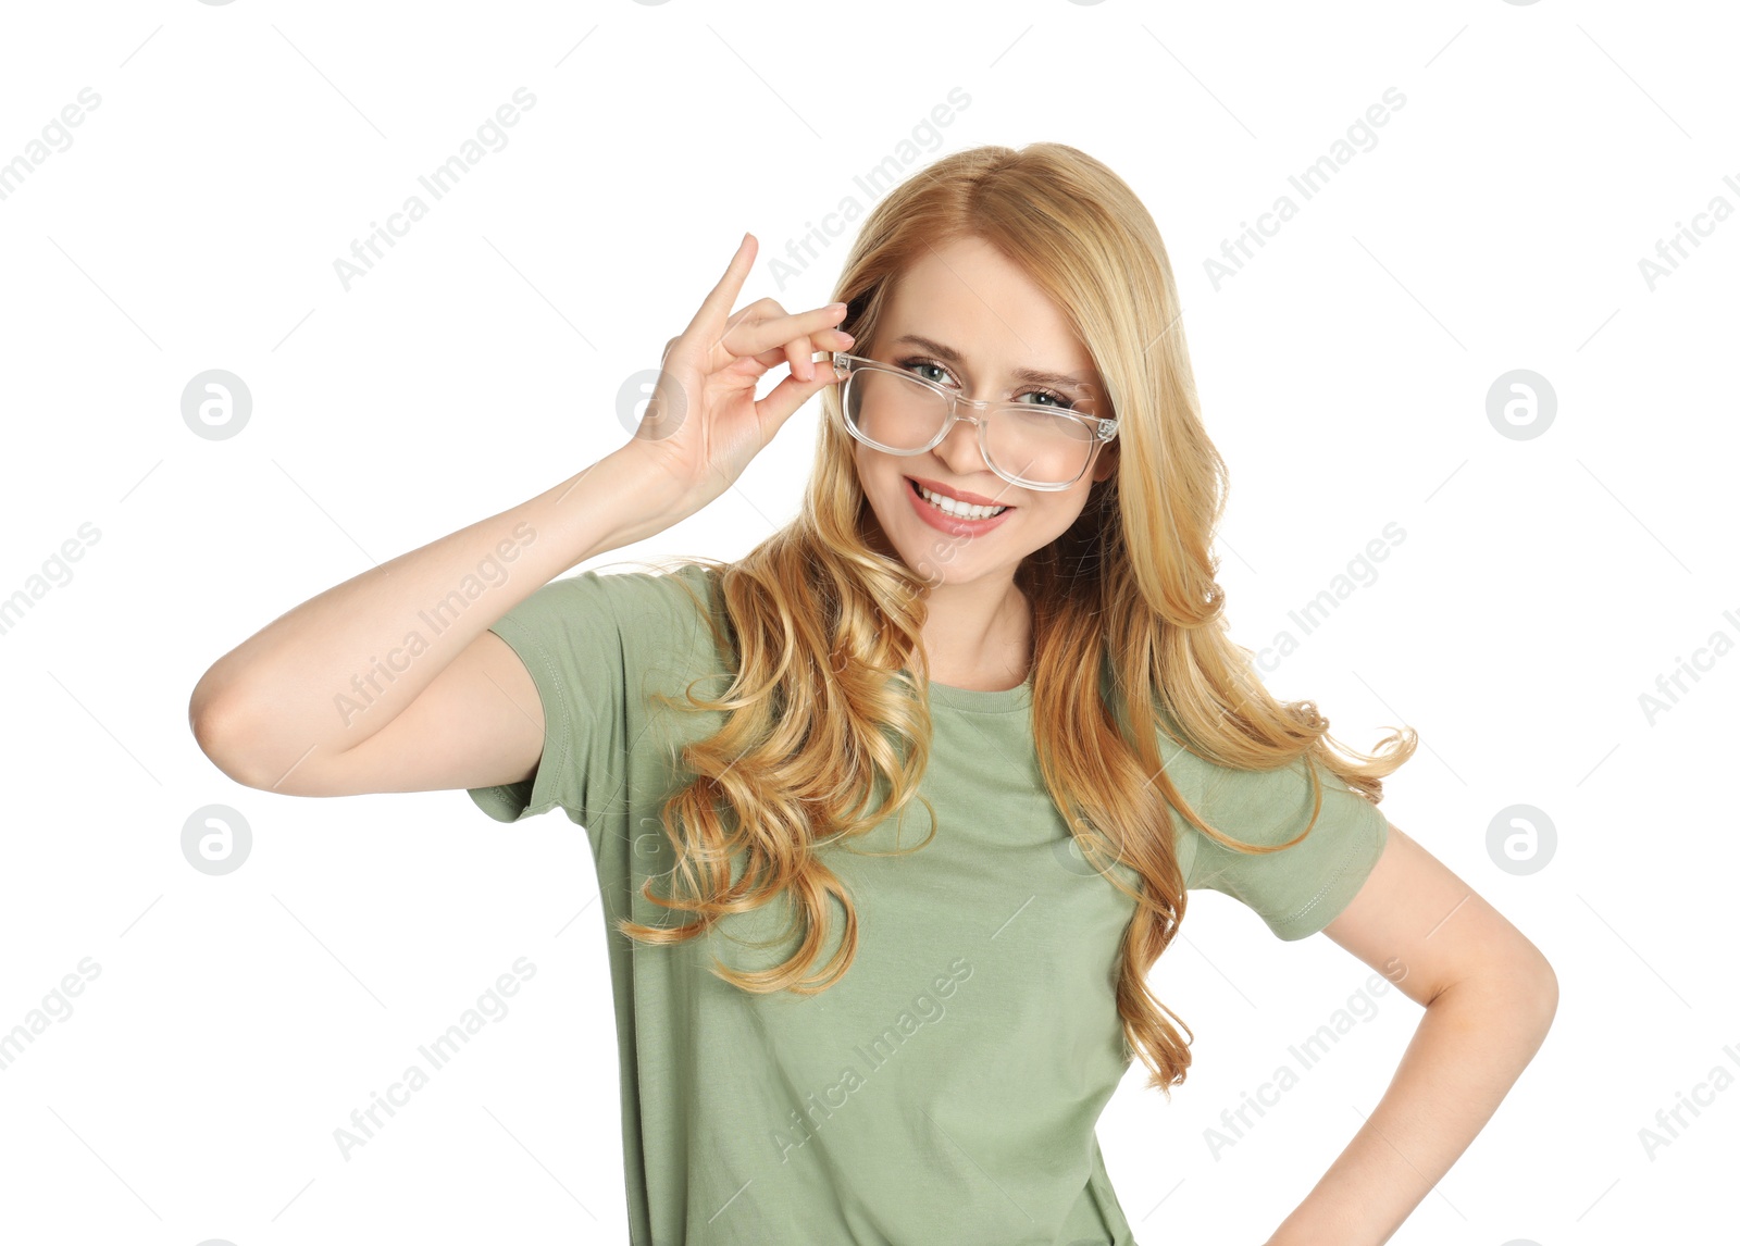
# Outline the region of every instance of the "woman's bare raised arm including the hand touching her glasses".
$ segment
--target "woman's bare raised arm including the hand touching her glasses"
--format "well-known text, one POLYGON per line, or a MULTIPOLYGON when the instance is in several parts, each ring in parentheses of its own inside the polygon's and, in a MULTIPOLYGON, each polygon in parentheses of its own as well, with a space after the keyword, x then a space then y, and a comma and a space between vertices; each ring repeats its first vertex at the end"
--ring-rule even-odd
POLYGON ((219 658, 188 719, 207 757, 247 787, 294 795, 419 792, 527 778, 541 705, 487 628, 543 585, 696 513, 743 473, 797 407, 833 383, 818 350, 844 305, 727 317, 755 258, 743 235, 687 329, 665 348, 635 437, 531 501, 402 553, 282 614, 219 658), (792 374, 764 399, 776 364, 792 374))

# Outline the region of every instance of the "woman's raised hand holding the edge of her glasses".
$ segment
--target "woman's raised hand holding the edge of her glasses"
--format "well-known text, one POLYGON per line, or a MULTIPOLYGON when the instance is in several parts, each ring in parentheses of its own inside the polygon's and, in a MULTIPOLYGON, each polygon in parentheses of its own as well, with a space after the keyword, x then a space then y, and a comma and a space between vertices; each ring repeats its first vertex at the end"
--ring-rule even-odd
POLYGON ((659 479, 668 477, 666 524, 729 489, 786 418, 835 383, 832 364, 814 362, 814 352, 853 343, 833 327, 846 315, 842 303, 788 315, 774 299, 759 299, 727 317, 755 249, 753 235, 745 233, 689 327, 666 343, 640 426, 621 451, 646 456, 659 479), (757 381, 781 362, 790 374, 757 402, 757 381))

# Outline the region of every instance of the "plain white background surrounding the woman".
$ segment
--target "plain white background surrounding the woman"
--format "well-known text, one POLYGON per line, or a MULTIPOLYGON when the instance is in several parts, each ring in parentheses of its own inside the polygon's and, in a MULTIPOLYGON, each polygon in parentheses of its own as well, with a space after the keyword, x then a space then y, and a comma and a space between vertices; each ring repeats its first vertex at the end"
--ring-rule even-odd
MULTIPOLYGON (((499 825, 463 792, 233 785, 188 694, 298 602, 619 445, 619 388, 745 230, 743 301, 816 306, 847 237, 795 278, 769 261, 842 198, 868 207, 860 174, 910 141, 917 167, 1039 139, 1112 165, 1166 238, 1232 468, 1235 635, 1296 632, 1288 611, 1387 524, 1406 533, 1270 686, 1357 748, 1418 729, 1390 821, 1559 975, 1547 1044, 1392 1241, 1731 1225, 1740 1089, 1653 1157, 1639 1136, 1712 1067, 1740 1075, 1731 10, 962 10, 7 7, 0 162, 28 160, 82 89, 101 103, 0 200, 0 597, 82 524, 101 538, 0 635, 0 1032, 84 957, 101 973, 0 1075, 0 1234, 626 1241, 579 828, 499 825), (536 106, 506 148, 346 291, 334 261, 517 87, 536 106), (922 129, 954 87, 969 106, 922 129), (1302 200, 1289 174, 1390 87, 1406 104, 1376 144, 1302 200), (1298 216, 1216 289, 1206 261, 1284 193, 1298 216), (1709 237, 1651 289, 1639 261, 1717 197, 1726 219, 1702 218, 1709 237), (214 367, 254 399, 226 440, 179 409, 214 367), (1540 437, 1488 419, 1512 369, 1557 395, 1540 437), (1651 722, 1641 694, 1717 632, 1651 722), (183 860, 205 804, 252 827, 230 875, 183 860), (1512 804, 1557 830, 1529 875, 1486 849, 1512 804), (334 1129, 517 957, 536 976, 513 1011, 343 1159, 334 1129)), ((797 510, 818 414, 703 515, 606 560, 766 538, 797 510)), ((1215 1157, 1204 1129, 1369 976, 1195 893, 1154 978, 1195 1034, 1188 1084, 1168 1107, 1133 1065, 1100 1124, 1143 1243, 1256 1243, 1305 1196, 1413 1034, 1397 992, 1235 1147, 1215 1157)))

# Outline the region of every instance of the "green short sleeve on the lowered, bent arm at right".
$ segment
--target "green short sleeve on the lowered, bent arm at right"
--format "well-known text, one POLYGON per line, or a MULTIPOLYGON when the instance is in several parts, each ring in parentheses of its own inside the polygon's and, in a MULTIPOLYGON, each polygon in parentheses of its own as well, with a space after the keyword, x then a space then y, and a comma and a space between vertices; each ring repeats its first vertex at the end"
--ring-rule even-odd
POLYGON ((1308 767, 1322 783, 1322 809, 1298 844, 1262 854, 1225 847, 1174 813, 1180 834, 1192 841, 1180 853, 1185 888, 1232 896, 1282 940, 1307 938, 1340 917, 1383 854, 1390 830, 1383 811, 1303 757, 1267 771, 1194 760, 1202 767, 1199 781, 1180 785, 1180 792, 1209 827, 1239 842, 1275 846, 1305 830, 1312 816, 1308 767))

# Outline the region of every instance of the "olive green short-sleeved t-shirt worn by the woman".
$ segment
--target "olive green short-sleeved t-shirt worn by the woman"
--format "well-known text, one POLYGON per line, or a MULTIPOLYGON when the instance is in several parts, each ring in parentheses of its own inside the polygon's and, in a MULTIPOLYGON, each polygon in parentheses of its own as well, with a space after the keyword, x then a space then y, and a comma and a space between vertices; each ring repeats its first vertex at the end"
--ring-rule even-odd
MULTIPOLYGON (((607 919, 621 1074, 628 1223, 637 1246, 1136 1243, 1094 1124, 1129 1067, 1114 994, 1133 901, 1088 865, 1046 790, 1032 684, 929 686, 933 752, 914 802, 828 846, 858 914, 858 952, 814 995, 759 995, 715 976, 780 964, 800 941, 776 901, 675 947, 614 922, 673 926, 673 851, 659 806, 693 774, 677 754, 724 722, 649 693, 729 684, 699 611, 710 574, 686 564, 579 573, 491 630, 531 672, 545 750, 524 783, 472 788, 498 821, 560 807, 585 827, 607 919), (856 849, 856 851, 847 851, 856 849), (771 940, 767 947, 752 941, 771 940)), ((1162 740, 1180 792, 1227 835, 1279 844, 1310 818, 1302 764, 1213 766, 1162 740)), ((1188 888, 1249 905, 1282 940, 1328 926, 1359 891, 1389 823, 1333 774, 1317 827, 1282 853, 1225 849, 1174 813, 1188 888)), ((1128 886, 1138 875, 1114 867, 1128 886)), ((830 900, 820 966, 840 943, 830 900)))

